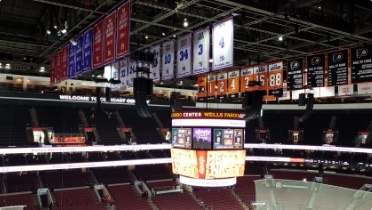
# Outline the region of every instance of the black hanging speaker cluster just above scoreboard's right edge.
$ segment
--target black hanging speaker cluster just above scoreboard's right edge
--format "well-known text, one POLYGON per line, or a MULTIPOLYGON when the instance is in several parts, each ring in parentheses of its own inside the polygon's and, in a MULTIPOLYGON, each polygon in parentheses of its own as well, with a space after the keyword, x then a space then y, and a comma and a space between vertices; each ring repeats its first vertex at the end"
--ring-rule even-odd
POLYGON ((261 90, 244 93, 243 108, 246 110, 245 120, 249 121, 260 117, 263 95, 264 92, 261 90))

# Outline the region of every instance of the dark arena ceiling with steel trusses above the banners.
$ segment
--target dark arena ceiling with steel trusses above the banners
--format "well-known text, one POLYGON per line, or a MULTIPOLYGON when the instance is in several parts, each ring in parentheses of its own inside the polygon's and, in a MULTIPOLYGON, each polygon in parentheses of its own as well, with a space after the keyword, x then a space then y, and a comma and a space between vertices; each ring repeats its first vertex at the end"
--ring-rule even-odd
MULTIPOLYGON (((9 71, 37 72, 53 52, 122 2, 1 0, 0 62, 12 64, 9 71)), ((235 23, 235 66, 372 43, 371 0, 132 0, 131 49, 146 49, 228 15, 235 23)))

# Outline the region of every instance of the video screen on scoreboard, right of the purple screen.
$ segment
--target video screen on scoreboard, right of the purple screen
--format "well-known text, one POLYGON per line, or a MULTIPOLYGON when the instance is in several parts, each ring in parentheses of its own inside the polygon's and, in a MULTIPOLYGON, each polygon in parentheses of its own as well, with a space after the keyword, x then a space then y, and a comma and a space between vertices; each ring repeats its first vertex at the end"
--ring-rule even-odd
POLYGON ((243 129, 215 128, 213 130, 214 149, 242 149, 243 144, 243 129))

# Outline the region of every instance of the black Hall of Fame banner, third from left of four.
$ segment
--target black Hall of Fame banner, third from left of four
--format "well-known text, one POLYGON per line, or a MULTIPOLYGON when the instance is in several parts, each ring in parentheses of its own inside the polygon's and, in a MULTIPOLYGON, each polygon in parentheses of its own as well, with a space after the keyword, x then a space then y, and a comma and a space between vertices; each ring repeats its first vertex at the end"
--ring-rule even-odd
POLYGON ((328 86, 349 82, 349 50, 328 53, 328 86))

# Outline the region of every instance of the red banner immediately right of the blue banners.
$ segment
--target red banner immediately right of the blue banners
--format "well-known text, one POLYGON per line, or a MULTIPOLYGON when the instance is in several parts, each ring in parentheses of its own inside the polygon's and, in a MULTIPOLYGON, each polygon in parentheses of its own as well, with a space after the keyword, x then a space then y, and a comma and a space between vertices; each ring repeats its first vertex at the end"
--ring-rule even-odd
POLYGON ((97 23, 94 26, 94 40, 93 40, 93 69, 103 65, 103 27, 104 21, 97 23))

